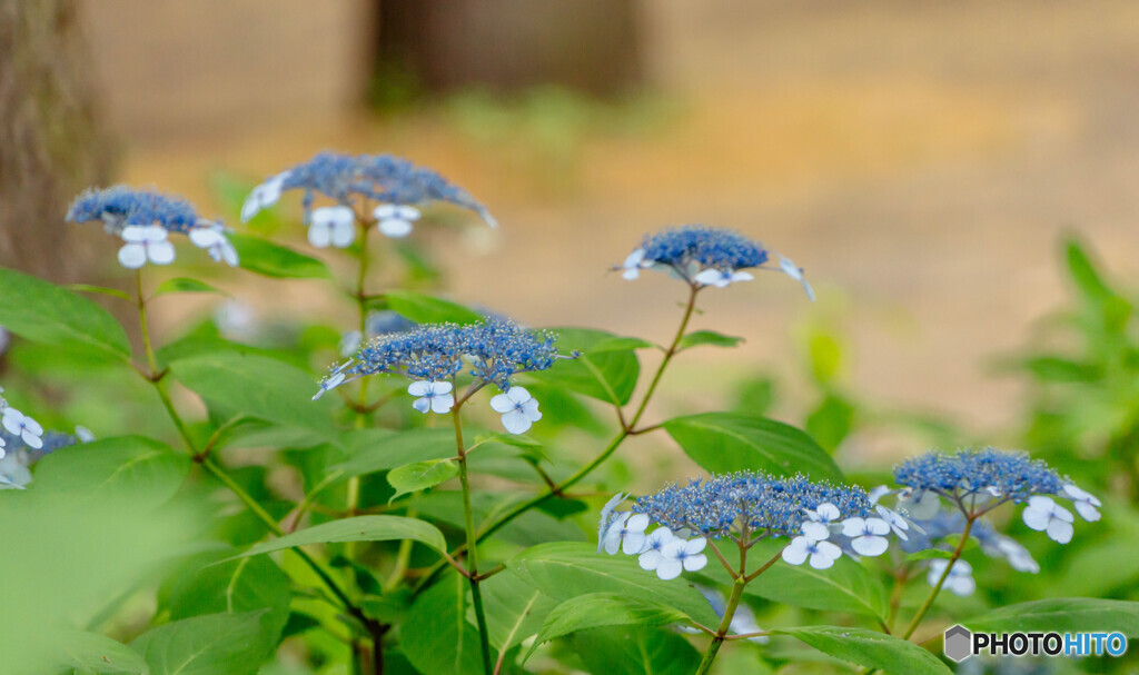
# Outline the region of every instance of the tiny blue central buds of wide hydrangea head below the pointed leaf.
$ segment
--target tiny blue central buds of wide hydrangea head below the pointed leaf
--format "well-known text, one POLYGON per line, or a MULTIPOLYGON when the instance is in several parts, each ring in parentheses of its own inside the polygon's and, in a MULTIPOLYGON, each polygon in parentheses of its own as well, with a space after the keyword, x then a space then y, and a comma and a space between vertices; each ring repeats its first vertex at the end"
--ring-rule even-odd
POLYGON ((828 503, 847 518, 870 516, 870 500, 860 487, 752 471, 695 479, 686 486, 673 483, 637 500, 632 511, 673 530, 713 538, 739 535, 745 527, 752 536, 793 537, 810 520, 808 511, 828 503))

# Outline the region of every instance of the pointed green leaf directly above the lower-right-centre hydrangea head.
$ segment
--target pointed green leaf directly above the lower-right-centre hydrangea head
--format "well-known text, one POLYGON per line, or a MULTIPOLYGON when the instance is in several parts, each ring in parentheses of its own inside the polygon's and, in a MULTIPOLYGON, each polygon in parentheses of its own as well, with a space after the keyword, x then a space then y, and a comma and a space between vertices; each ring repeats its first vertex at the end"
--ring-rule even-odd
POLYGON ((810 436, 764 417, 706 412, 673 418, 664 422, 664 429, 685 454, 712 474, 763 470, 842 480, 835 460, 810 436))

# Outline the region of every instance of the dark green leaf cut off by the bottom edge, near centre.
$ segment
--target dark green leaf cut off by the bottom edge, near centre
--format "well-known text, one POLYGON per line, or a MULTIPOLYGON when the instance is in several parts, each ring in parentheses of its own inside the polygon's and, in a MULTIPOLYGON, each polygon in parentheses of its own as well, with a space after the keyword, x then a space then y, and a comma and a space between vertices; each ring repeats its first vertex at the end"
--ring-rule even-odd
POLYGON ((700 655, 682 636, 645 626, 582 631, 571 641, 590 673, 691 675, 700 655))

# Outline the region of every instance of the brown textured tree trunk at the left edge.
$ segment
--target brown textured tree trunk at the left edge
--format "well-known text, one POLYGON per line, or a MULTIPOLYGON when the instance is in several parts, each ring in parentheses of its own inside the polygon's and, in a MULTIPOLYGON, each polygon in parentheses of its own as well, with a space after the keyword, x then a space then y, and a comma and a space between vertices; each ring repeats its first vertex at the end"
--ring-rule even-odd
POLYGON ((0 0, 0 264, 57 282, 95 281, 114 247, 81 250, 64 223, 110 166, 79 23, 75 0, 0 0))

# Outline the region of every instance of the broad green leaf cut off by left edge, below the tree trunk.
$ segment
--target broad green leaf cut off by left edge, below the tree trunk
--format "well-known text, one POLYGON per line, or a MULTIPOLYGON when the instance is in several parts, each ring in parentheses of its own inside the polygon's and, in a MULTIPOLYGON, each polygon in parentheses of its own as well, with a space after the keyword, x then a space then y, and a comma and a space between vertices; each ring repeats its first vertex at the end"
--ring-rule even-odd
POLYGON ((38 343, 77 344, 118 357, 131 353, 123 328, 103 307, 7 267, 0 267, 0 326, 38 343))

